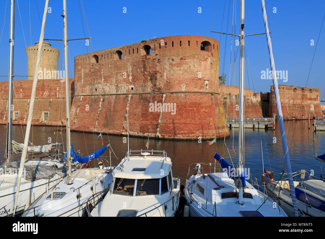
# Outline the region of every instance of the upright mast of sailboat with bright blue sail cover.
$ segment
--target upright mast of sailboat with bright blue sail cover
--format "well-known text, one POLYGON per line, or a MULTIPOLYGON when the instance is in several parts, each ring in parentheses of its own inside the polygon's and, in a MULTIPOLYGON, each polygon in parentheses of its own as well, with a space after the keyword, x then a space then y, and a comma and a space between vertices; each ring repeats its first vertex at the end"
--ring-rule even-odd
POLYGON ((69 65, 68 65, 68 30, 67 30, 67 1, 63 0, 63 28, 64 28, 64 70, 65 70, 65 112, 67 128, 67 162, 68 162, 68 185, 71 182, 71 136, 70 136, 70 102, 69 102, 69 65))

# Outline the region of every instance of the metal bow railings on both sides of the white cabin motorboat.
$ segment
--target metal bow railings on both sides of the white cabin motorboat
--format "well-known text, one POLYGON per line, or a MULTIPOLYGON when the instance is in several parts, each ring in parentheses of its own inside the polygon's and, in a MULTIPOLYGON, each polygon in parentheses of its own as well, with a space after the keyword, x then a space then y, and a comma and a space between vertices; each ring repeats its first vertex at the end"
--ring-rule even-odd
MULTIPOLYGON (((103 191, 100 191, 98 193, 93 194, 91 197, 88 198, 87 203, 86 203, 86 213, 87 213, 88 217, 92 217, 92 215, 90 214, 91 210, 90 210, 89 206, 93 205, 93 208, 96 208, 96 206, 97 206, 96 203, 98 204, 100 202, 100 200, 103 200, 103 198, 105 197, 106 193, 108 193, 108 191, 109 191, 109 189, 105 189, 103 191), (100 195, 100 197, 99 197, 99 195, 100 195), (96 201, 96 198, 98 199, 97 201, 96 201), (92 203, 92 201, 93 201, 93 203, 92 203)), ((160 204, 159 206, 156 206, 156 207, 150 209, 149 211, 147 211, 145 213, 142 213, 142 214, 140 214, 139 216, 136 216, 136 217, 140 217, 140 216, 143 216, 143 215, 146 215, 146 217, 147 217, 147 213, 149 213, 149 212, 151 212, 151 211, 153 211, 153 210, 155 210, 155 209, 157 209, 157 208, 159 208, 161 206, 163 206, 164 215, 166 217, 165 204, 168 203, 170 200, 173 200, 172 210, 174 211, 175 206, 177 205, 178 200, 179 200, 179 193, 180 193, 180 191, 178 190, 178 192, 174 196, 172 196, 170 199, 168 199, 166 202, 164 202, 164 203, 160 204)))

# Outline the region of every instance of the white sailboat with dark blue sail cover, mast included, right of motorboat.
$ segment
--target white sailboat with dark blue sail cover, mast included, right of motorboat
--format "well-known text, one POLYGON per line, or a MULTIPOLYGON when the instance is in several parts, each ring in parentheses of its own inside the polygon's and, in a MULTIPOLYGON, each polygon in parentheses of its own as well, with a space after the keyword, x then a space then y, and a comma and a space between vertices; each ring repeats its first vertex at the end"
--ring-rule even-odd
MULTIPOLYGON (((269 40, 267 29, 264 0, 262 9, 266 36, 269 40)), ((188 202, 190 216, 214 216, 214 217, 285 217, 284 210, 274 202, 269 196, 258 191, 245 180, 245 171, 243 170, 244 151, 243 151, 243 87, 244 87, 244 0, 240 1, 240 86, 239 86, 239 152, 238 165, 231 166, 218 153, 214 158, 224 169, 222 173, 201 173, 201 164, 196 164, 196 174, 189 177, 185 186, 185 198, 188 202)), ((273 60, 272 46, 268 41, 270 58, 273 60)), ((271 61, 274 66, 274 61, 271 61)), ((272 69, 273 70, 273 69, 272 69)), ((274 88, 278 89, 277 80, 273 72, 273 82, 276 82, 274 88)), ((280 100, 277 99, 277 108, 279 109, 280 100)), ((279 112, 278 112, 279 114, 279 112)), ((282 121, 283 123, 283 121, 282 121)), ((280 126, 281 128, 281 126, 280 126)), ((282 129, 281 129, 282 130, 282 129)), ((282 132, 281 132, 282 134, 282 132)), ((282 143, 284 141, 282 140, 282 143)), ((286 146, 287 149, 287 146, 286 146)), ((283 151, 287 153, 287 151, 283 151)), ((291 173, 290 161, 285 161, 288 173, 291 173), (288 165, 289 164, 289 165, 288 165)), ((193 165, 193 164, 192 164, 193 165)), ((192 165, 189 167, 191 173, 192 165)), ((292 175, 291 175, 292 176, 292 175)), ((294 195, 292 195, 294 198, 294 195)))

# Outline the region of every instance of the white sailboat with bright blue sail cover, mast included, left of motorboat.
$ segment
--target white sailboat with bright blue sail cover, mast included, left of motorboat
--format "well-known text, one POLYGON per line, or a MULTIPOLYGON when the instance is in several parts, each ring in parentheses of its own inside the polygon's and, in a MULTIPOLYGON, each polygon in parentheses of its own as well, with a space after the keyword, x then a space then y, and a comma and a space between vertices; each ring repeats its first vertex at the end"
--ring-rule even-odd
MULTIPOLYGON (((48 6, 48 0, 45 1, 42 30, 40 36, 39 45, 42 46, 45 30, 46 11, 48 6)), ((67 176, 50 188, 47 192, 40 195, 32 204, 24 211, 22 216, 83 216, 85 214, 85 203, 88 198, 96 192, 105 190, 110 187, 112 175, 110 174, 110 167, 101 168, 79 168, 72 172, 73 164, 84 164, 98 157, 104 153, 104 151, 110 147, 106 145, 94 153, 85 157, 80 157, 74 152, 71 144, 70 135, 70 102, 69 102, 69 73, 68 73, 68 33, 67 33, 67 5, 66 0, 63 0, 63 24, 64 24, 64 63, 65 63, 65 99, 66 99, 66 137, 67 137, 67 149, 66 149, 66 167, 67 176)), ((35 69, 39 69, 40 63, 40 48, 37 54, 37 61, 35 69), (38 64, 38 65, 37 65, 38 64)), ((27 121, 27 129, 25 134, 25 143, 21 156, 20 169, 23 168, 27 143, 29 139, 31 116, 33 111, 33 103, 35 99, 37 78, 34 77, 31 107, 29 117, 27 121), (31 115, 31 116, 30 116, 31 115)), ((99 163, 99 162, 98 162, 99 163)), ((17 192, 19 192, 21 177, 18 178, 17 192)), ((17 204, 17 196, 15 205, 17 204)))

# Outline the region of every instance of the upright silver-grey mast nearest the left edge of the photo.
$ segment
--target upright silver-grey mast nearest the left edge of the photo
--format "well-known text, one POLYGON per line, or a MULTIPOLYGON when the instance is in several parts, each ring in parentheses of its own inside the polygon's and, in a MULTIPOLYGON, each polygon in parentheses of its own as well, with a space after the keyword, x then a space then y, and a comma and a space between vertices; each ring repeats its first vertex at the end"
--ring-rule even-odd
POLYGON ((12 151, 12 89, 14 80, 14 38, 15 38, 15 0, 11 0, 9 33, 9 74, 8 74, 8 122, 7 122, 7 162, 11 161, 12 151))

